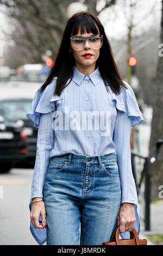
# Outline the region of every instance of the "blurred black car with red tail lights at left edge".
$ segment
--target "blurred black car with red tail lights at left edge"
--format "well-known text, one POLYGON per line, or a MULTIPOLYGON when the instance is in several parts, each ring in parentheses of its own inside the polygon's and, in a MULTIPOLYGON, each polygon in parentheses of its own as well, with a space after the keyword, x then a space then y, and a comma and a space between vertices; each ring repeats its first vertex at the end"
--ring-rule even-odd
POLYGON ((28 154, 27 136, 24 127, 12 123, 0 115, 0 173, 7 173, 28 154))

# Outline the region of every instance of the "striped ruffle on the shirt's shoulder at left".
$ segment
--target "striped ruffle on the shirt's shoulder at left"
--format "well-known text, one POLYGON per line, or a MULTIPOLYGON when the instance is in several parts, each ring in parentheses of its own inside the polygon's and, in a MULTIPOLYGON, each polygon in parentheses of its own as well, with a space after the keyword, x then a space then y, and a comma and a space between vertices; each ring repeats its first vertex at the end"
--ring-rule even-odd
POLYGON ((55 101, 64 99, 64 93, 61 93, 60 96, 53 95, 56 80, 57 78, 54 77, 53 81, 48 84, 43 92, 40 92, 41 87, 37 89, 30 110, 26 114, 26 116, 34 122, 34 127, 37 129, 40 124, 40 115, 54 111, 55 101))

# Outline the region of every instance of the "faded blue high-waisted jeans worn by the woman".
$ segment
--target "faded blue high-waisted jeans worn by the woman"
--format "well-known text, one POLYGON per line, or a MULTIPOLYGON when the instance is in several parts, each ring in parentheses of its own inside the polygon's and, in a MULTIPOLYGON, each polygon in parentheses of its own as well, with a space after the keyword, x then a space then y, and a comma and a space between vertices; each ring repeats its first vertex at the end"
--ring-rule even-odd
POLYGON ((47 245, 102 245, 109 241, 121 206, 117 154, 52 157, 43 200, 47 245))

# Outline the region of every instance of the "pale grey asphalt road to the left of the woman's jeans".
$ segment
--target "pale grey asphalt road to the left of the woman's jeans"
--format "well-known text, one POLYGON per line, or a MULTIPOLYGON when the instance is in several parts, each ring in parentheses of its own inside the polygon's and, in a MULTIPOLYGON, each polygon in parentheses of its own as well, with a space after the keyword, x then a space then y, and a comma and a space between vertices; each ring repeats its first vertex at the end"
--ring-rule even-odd
POLYGON ((32 176, 33 169, 0 174, 0 245, 37 245, 29 229, 32 176))

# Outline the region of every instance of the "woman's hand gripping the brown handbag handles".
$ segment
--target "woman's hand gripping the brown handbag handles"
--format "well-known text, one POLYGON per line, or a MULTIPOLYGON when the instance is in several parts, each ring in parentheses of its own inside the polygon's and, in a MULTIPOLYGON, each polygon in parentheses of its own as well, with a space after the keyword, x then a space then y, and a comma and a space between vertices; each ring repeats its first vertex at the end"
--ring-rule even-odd
POLYGON ((134 204, 122 203, 117 216, 117 225, 120 225, 120 233, 131 231, 134 228, 136 218, 134 204), (129 228, 125 230, 125 228, 129 228))

